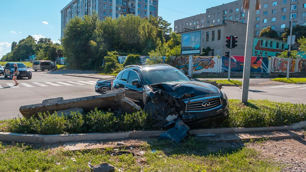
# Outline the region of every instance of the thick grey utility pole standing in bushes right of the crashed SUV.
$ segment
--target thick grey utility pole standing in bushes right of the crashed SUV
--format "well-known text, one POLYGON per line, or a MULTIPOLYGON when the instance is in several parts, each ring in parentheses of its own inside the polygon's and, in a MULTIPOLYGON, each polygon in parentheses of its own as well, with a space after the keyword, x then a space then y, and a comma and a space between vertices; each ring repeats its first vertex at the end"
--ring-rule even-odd
POLYGON ((247 26, 247 36, 245 43, 244 52, 244 69, 243 69, 243 80, 242 80, 242 94, 241 103, 248 102, 248 88, 250 83, 250 71, 251 71, 251 57, 253 50, 253 34, 254 34, 254 19, 256 13, 256 0, 249 0, 248 6, 248 26, 247 26))

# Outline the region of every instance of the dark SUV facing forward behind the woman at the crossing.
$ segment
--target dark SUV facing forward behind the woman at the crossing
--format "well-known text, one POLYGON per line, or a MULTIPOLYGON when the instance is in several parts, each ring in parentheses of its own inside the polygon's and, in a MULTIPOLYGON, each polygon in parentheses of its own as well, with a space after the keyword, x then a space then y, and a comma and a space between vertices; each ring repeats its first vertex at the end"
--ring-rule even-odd
MULTIPOLYGON (((5 78, 7 78, 9 76, 11 79, 13 79, 14 63, 15 62, 8 62, 4 66, 3 76, 5 78)), ((23 63, 17 62, 17 67, 18 67, 18 71, 19 71, 19 74, 17 75, 17 77, 23 77, 23 78, 27 77, 28 79, 32 78, 32 71, 30 69, 28 69, 28 67, 26 65, 24 65, 23 63)))

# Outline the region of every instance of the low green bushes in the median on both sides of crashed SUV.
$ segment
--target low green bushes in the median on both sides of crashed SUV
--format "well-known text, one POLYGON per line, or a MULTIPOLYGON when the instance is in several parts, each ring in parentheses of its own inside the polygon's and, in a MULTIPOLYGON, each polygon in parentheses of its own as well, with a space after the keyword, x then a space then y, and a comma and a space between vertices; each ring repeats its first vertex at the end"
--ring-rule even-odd
MULTIPOLYGON (((230 99, 229 115, 190 127, 268 127, 289 125, 306 120, 306 105, 250 100, 246 105, 230 99)), ((138 111, 126 114, 92 110, 86 115, 72 113, 70 117, 39 114, 38 118, 15 118, 0 122, 1 132, 30 134, 103 133, 158 129, 151 116, 138 111)))

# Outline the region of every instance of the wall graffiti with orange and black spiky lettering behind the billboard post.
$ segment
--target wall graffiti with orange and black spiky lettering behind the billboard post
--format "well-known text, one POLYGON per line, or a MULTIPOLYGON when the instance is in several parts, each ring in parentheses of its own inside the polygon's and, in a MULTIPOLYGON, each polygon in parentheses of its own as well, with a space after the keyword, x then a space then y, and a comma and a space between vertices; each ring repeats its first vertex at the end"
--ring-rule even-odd
MULTIPOLYGON (((181 56, 177 59, 177 69, 188 69, 189 56, 181 56)), ((193 73, 202 72, 218 72, 218 57, 216 56, 194 56, 193 58, 193 73)))

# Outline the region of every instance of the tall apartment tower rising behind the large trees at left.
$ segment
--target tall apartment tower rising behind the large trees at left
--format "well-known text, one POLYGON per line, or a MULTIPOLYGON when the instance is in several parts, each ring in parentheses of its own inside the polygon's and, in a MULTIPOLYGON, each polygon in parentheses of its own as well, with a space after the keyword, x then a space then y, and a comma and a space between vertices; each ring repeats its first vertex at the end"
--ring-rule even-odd
POLYGON ((73 0, 61 10, 61 37, 67 22, 96 12, 101 20, 133 14, 140 17, 158 16, 158 0, 73 0))

